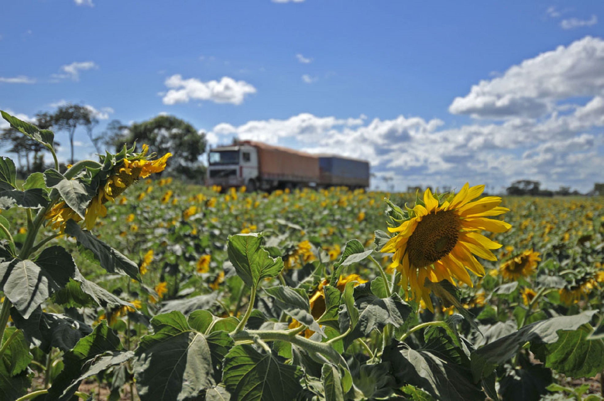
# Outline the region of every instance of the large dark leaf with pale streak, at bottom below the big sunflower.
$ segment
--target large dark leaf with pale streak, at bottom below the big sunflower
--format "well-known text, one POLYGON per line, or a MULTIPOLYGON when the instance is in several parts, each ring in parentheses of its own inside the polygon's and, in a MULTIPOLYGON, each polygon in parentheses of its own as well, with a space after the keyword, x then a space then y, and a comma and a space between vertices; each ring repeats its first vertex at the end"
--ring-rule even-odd
POLYGON ((411 384, 437 400, 484 400, 485 394, 472 381, 469 368, 460 366, 438 351, 413 350, 393 341, 384 348, 384 362, 390 362, 397 385, 411 384))

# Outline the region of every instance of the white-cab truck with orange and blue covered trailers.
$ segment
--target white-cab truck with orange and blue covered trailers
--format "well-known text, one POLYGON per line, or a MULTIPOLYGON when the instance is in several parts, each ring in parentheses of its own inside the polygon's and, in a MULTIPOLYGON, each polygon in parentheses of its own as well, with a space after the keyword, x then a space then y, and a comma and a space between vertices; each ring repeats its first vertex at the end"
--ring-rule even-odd
POLYGON ((207 184, 247 191, 298 187, 369 186, 369 163, 338 155, 313 155, 250 140, 208 152, 207 184))

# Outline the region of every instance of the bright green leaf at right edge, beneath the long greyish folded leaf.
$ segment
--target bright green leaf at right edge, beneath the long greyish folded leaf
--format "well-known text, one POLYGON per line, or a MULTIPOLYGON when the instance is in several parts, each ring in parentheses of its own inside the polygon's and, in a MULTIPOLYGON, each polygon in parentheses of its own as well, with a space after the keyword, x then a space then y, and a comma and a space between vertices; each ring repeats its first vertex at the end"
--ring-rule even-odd
POLYGON ((547 344, 545 366, 572 377, 596 376, 604 369, 604 342, 589 340, 591 327, 558 330, 558 341, 547 344))

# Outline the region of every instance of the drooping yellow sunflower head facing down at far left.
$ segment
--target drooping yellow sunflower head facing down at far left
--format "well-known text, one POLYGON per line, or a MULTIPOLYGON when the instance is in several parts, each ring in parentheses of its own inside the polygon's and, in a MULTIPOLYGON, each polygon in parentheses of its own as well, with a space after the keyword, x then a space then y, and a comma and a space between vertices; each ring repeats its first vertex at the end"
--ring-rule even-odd
POLYGON ((82 219, 82 216, 71 209, 65 201, 60 201, 46 215, 47 220, 51 222, 51 227, 64 232, 68 220, 84 220, 86 229, 92 229, 97 217, 107 215, 105 203, 115 201, 115 197, 122 194, 139 178, 147 178, 153 173, 164 171, 166 161, 172 156, 171 153, 167 153, 157 160, 149 160, 153 155, 147 157, 147 152, 149 152, 147 145, 143 145, 143 151, 137 154, 127 154, 124 149, 121 158, 112 163, 111 169, 105 174, 106 177, 98 184, 97 194, 86 207, 84 218, 82 219))

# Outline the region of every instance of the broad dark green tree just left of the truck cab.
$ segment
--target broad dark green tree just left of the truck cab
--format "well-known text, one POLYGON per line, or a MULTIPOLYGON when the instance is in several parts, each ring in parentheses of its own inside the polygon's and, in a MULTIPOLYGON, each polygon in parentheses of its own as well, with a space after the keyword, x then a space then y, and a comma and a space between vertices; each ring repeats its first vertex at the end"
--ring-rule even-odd
POLYGON ((175 116, 158 116, 123 129, 123 125, 114 121, 115 124, 108 126, 108 130, 109 135, 115 137, 116 150, 124 144, 132 146, 134 142, 139 145, 146 143, 150 151, 159 155, 172 153, 166 168, 170 174, 182 175, 191 180, 203 177, 205 168, 199 157, 205 152, 205 134, 198 132, 190 123, 175 116))

